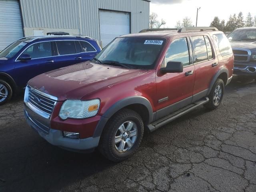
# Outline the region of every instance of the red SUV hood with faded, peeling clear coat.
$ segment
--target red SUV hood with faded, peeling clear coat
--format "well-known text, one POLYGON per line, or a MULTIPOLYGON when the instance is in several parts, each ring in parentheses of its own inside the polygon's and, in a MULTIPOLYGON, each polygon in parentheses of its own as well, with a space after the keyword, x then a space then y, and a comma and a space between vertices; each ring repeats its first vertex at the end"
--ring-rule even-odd
POLYGON ((59 101, 80 100, 91 92, 144 72, 146 70, 83 62, 40 74, 32 78, 28 84, 44 93, 58 97, 59 101))

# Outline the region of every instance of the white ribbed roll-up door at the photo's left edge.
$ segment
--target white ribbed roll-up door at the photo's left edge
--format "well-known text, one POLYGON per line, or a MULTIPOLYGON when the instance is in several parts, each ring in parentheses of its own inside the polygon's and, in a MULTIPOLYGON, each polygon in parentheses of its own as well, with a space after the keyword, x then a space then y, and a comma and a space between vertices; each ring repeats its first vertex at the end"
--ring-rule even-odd
POLYGON ((18 0, 0 0, 0 51, 22 37, 18 0))

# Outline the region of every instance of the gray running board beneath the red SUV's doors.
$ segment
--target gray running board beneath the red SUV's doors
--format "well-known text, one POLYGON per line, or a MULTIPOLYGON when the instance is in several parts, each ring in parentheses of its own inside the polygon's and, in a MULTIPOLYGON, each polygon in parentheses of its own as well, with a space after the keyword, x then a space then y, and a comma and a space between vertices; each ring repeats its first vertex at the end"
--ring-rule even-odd
POLYGON ((199 106, 204 105, 208 102, 209 102, 208 97, 198 100, 197 102, 190 104, 189 106, 186 106, 186 107, 184 107, 184 108, 182 108, 182 109, 180 109, 162 119, 152 122, 151 124, 148 125, 148 128, 149 128, 150 132, 152 132, 152 131, 160 128, 161 126, 179 118, 180 116, 182 116, 182 115, 184 115, 184 114, 194 110, 195 108, 198 108, 199 106))

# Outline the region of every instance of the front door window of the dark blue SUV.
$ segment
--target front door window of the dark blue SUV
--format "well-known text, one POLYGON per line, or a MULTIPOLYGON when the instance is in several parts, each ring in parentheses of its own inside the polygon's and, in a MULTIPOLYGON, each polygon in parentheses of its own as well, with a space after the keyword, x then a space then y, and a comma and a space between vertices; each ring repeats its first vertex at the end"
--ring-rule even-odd
POLYGON ((23 54, 28 54, 32 59, 52 56, 51 42, 39 42, 29 46, 23 54))

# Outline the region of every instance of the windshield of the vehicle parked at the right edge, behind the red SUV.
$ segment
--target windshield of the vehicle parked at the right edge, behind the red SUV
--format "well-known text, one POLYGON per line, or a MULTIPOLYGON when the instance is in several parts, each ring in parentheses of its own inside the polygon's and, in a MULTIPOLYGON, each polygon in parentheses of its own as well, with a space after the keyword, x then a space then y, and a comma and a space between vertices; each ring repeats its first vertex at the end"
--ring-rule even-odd
POLYGON ((256 41, 256 28, 255 29, 240 29, 234 30, 228 34, 230 41, 256 41))

